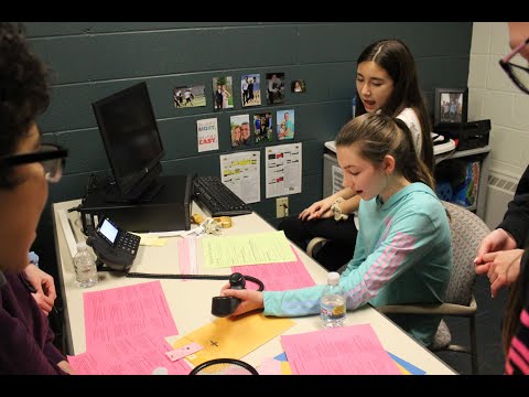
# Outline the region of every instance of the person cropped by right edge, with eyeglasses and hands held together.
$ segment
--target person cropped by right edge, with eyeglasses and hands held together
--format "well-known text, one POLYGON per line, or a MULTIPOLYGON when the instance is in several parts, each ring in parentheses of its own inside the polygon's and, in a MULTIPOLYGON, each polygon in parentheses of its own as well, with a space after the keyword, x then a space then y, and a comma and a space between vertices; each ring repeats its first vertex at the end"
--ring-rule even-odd
MULTIPOLYGON (((499 61, 510 79, 529 94, 529 68, 510 61, 520 54, 529 61, 529 22, 509 22, 512 51, 499 61)), ((529 375, 529 167, 518 182, 503 222, 479 245, 474 262, 487 275, 494 298, 510 286, 503 322, 505 374, 529 375)))

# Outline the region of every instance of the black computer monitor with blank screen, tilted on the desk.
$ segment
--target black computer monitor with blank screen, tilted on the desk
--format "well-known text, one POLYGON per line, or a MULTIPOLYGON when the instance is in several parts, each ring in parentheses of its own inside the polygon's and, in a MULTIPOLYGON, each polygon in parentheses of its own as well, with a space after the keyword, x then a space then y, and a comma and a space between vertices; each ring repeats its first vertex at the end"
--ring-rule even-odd
POLYGON ((162 187, 158 176, 164 155, 144 82, 91 104, 115 184, 107 202, 150 201, 162 187))

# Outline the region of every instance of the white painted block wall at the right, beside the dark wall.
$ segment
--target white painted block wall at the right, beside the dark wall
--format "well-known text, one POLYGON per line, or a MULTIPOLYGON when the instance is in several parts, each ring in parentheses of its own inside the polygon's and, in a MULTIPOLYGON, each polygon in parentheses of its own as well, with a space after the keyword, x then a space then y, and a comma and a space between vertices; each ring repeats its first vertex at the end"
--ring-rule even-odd
MULTIPOLYGON (((529 164, 529 95, 499 66, 510 51, 507 22, 474 22, 468 68, 468 120, 490 119, 490 175, 518 180, 529 164)), ((521 56, 514 63, 527 65, 521 56)), ((495 227, 512 194, 487 189, 485 222, 495 227)))

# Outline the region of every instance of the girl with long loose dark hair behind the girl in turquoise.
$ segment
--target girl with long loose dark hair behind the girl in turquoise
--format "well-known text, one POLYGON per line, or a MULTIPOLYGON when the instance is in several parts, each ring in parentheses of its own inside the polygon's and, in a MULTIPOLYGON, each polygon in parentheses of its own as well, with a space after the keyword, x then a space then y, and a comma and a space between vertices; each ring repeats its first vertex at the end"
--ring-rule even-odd
MULTIPOLYGON (((399 40, 380 40, 367 46, 357 60, 356 89, 360 99, 356 116, 381 112, 403 120, 412 133, 417 154, 433 173, 430 118, 408 46, 399 40)), ((353 257, 357 235, 354 217, 339 214, 357 211, 359 197, 345 187, 299 215, 287 217, 278 228, 302 249, 313 237, 327 238, 330 242, 315 254, 315 259, 328 270, 336 270, 353 257)))

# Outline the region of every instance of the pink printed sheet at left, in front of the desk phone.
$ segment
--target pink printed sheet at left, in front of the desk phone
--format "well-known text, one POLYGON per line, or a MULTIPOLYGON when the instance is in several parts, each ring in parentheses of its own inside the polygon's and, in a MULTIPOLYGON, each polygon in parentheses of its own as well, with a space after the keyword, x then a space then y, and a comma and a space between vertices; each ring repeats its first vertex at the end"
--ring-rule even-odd
POLYGON ((179 334, 160 281, 85 292, 83 299, 87 351, 142 333, 179 334))

